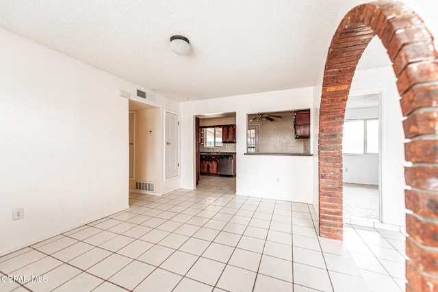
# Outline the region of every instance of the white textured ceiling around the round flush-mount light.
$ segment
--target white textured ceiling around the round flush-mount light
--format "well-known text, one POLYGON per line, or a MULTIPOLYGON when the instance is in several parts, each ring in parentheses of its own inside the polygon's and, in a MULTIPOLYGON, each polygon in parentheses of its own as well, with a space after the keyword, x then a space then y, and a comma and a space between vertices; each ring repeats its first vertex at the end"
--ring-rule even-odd
MULTIPOLYGON (((0 0, 0 27, 188 101, 315 85, 339 21, 365 2, 0 0), (175 34, 189 55, 170 51, 175 34)), ((373 52, 361 68, 388 64, 373 52)))

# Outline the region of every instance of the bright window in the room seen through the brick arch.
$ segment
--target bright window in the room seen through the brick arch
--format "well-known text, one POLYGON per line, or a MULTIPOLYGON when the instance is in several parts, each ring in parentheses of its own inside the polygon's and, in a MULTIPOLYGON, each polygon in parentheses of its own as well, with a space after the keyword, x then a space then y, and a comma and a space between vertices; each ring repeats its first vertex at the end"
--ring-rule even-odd
POLYGON ((344 154, 378 153, 378 120, 346 120, 342 152, 344 154))

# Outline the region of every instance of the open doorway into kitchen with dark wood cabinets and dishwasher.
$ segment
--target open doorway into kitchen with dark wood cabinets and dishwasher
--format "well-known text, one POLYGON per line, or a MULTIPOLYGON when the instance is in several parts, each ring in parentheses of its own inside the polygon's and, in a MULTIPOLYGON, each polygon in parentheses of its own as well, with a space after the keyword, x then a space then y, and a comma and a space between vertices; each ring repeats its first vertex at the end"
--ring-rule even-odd
POLYGON ((196 185, 220 183, 235 194, 235 112, 198 115, 195 125, 196 185))

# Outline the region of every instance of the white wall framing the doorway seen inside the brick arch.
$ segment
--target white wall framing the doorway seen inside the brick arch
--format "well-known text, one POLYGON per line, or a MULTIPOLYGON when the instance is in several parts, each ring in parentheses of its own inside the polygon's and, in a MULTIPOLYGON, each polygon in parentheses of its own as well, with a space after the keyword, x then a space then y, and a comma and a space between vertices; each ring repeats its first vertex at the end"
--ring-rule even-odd
POLYGON ((396 77, 391 67, 355 72, 350 95, 378 92, 382 94, 382 221, 404 226, 404 133, 396 77))

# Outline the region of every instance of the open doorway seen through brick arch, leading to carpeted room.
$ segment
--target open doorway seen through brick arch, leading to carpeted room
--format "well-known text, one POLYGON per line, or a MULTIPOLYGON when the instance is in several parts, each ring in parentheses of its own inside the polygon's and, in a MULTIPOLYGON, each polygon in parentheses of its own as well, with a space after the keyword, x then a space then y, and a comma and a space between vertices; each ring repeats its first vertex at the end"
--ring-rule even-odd
POLYGON ((381 222, 380 96, 348 96, 342 160, 344 217, 347 222, 381 222))

